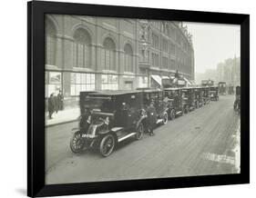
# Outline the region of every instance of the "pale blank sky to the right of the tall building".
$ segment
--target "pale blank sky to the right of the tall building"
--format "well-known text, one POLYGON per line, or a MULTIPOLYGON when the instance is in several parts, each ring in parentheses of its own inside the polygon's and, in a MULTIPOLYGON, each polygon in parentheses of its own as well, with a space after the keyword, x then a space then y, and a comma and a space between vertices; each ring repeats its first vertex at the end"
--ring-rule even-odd
POLYGON ((188 31, 193 36, 195 73, 215 69, 217 64, 225 59, 240 56, 240 25, 189 22, 184 25, 188 26, 188 31))

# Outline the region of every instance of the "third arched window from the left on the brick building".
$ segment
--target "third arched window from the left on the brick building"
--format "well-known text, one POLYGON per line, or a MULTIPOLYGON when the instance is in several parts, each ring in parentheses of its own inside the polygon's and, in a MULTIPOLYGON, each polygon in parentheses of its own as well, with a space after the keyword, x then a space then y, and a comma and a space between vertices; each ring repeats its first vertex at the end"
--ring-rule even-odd
POLYGON ((111 38, 106 38, 103 43, 103 68, 116 70, 116 45, 111 38))

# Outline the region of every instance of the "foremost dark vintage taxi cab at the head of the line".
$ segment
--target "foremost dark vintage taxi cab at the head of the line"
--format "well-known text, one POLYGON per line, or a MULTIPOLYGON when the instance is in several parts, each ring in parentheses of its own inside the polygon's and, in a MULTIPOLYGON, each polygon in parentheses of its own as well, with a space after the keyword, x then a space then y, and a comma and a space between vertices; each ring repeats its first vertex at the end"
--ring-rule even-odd
POLYGON ((81 92, 80 95, 81 118, 70 140, 72 152, 95 147, 107 157, 118 143, 128 138, 142 138, 143 120, 147 115, 142 111, 141 92, 81 92))

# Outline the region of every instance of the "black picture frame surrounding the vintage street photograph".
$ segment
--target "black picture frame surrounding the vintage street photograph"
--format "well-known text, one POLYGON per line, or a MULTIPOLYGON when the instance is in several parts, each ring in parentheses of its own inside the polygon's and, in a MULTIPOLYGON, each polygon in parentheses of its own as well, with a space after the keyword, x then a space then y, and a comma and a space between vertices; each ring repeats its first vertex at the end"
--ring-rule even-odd
POLYGON ((27 3, 27 195, 128 192, 250 182, 250 15, 112 5, 27 3), (241 25, 241 173, 45 184, 45 15, 94 15, 241 25))

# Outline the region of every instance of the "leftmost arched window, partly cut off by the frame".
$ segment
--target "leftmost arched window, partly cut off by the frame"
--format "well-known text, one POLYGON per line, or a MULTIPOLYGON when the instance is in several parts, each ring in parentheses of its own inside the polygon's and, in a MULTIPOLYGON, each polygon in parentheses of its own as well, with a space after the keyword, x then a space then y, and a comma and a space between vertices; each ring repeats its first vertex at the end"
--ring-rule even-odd
POLYGON ((56 65, 56 26, 46 19, 46 64, 56 65))

